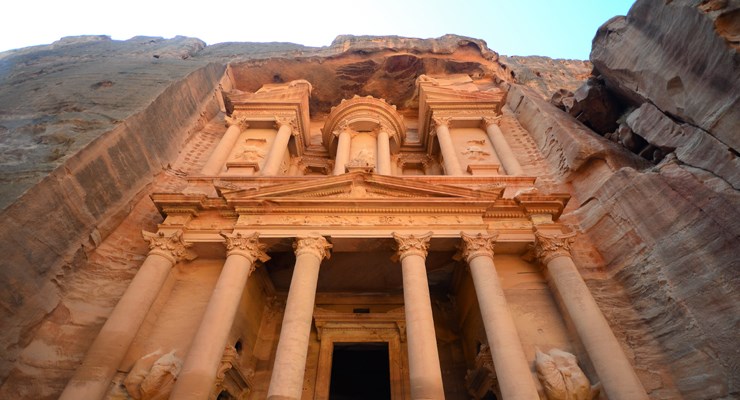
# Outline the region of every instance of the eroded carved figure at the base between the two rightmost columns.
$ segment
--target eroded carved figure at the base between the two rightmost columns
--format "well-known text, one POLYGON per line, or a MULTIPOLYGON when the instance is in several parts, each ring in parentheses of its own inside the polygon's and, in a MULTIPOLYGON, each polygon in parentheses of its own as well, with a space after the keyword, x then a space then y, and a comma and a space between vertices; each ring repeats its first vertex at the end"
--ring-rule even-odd
POLYGON ((599 395, 601 385, 591 386, 576 356, 567 351, 545 354, 537 349, 534 364, 549 400, 592 400, 599 395))

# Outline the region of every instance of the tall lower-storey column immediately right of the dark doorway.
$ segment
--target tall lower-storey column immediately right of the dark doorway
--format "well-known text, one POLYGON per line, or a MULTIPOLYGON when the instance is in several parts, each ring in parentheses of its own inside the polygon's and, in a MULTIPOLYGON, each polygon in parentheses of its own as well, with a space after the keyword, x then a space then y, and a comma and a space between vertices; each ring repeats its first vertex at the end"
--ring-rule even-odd
POLYGON ((424 235, 393 234, 398 244, 397 257, 403 273, 412 399, 445 398, 425 264, 431 237, 432 232, 424 235))

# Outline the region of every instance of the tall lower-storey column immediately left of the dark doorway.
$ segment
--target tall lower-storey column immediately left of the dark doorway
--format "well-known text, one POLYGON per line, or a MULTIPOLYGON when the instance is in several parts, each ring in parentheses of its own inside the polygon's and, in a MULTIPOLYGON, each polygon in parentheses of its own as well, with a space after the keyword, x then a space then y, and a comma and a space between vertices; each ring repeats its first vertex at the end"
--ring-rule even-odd
POLYGON ((311 334, 319 266, 329 258, 329 244, 322 236, 296 238, 295 269, 285 303, 275 364, 272 367, 268 400, 299 400, 303 395, 308 338, 311 334))

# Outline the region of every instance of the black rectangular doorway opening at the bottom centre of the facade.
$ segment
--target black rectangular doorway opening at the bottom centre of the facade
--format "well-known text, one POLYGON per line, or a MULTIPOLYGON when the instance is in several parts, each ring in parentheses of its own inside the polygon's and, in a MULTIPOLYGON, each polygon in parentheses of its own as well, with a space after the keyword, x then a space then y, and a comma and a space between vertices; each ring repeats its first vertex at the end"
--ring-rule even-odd
POLYGON ((388 343, 334 343, 329 400, 390 400, 388 343))

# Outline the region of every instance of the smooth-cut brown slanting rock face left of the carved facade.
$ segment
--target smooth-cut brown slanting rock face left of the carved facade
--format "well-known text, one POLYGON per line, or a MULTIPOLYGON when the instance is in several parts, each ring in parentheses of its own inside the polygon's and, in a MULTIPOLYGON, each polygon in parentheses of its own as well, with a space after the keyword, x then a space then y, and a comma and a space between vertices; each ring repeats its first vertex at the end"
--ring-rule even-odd
MULTIPOLYGON (((170 84, 160 85, 158 92, 136 92, 144 82, 128 82, 133 86, 116 91, 114 98, 124 96, 124 102, 125 95, 136 98, 121 111, 121 121, 105 125, 110 130, 96 131, 97 137, 81 135, 88 141, 81 150, 66 155, 2 211, 0 381, 17 368, 19 352, 41 321, 53 317, 64 281, 88 263, 88 251, 124 220, 192 130, 219 112, 215 85, 224 66, 194 64, 188 69, 186 75, 181 75, 182 68, 170 71, 179 78, 167 78, 170 84)), ((81 75, 79 79, 90 78, 81 75)))

